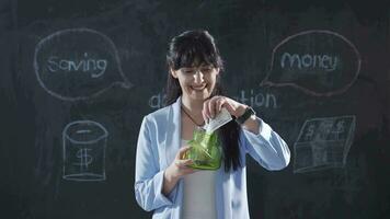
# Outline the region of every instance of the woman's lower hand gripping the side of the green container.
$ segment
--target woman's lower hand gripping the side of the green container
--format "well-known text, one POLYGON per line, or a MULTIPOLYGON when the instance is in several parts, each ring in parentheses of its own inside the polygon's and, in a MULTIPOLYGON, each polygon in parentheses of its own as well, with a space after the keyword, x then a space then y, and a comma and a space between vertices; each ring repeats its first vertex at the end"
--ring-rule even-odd
POLYGON ((193 160, 191 159, 182 159, 187 150, 190 150, 190 146, 181 148, 176 157, 174 158, 171 165, 169 165, 164 171, 164 182, 163 182, 163 194, 168 195, 171 193, 173 187, 176 185, 177 181, 187 174, 195 173, 196 170, 190 168, 188 165, 193 164, 193 160))

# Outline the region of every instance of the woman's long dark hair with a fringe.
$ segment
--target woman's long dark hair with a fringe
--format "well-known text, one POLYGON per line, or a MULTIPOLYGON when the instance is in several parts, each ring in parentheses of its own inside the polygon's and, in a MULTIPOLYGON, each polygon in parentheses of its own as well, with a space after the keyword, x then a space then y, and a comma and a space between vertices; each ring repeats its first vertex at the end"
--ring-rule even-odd
MULTIPOLYGON (((223 70, 223 62, 219 55, 219 50, 215 44, 214 37, 207 31, 186 31, 179 36, 172 38, 169 44, 167 54, 167 64, 169 70, 179 70, 183 67, 194 67, 200 65, 213 65, 215 68, 223 70)), ((216 85, 210 97, 215 95, 223 95, 220 83, 220 73, 217 76, 216 85)), ((179 80, 168 73, 165 87, 165 105, 174 103, 180 95, 182 89, 179 80)), ((234 171, 241 166, 240 149, 239 149, 240 126, 231 120, 218 129, 219 139, 222 142, 225 171, 228 172, 232 168, 234 171)))

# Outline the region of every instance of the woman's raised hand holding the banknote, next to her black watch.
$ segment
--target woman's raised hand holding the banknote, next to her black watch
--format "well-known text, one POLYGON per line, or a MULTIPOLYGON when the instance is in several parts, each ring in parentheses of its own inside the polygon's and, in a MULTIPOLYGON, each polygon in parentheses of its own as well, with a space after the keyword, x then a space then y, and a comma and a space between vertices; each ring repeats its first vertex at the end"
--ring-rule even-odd
POLYGON ((203 103, 202 114, 204 119, 208 120, 209 118, 214 118, 222 107, 226 107, 230 115, 237 118, 245 112, 248 106, 232 99, 216 95, 203 103))

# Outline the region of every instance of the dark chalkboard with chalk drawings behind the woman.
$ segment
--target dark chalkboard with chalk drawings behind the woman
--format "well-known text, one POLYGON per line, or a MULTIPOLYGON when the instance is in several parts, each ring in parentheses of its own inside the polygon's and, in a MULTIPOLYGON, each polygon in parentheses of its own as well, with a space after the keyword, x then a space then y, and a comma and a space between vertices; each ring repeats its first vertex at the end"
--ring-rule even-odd
POLYGON ((389 5, 277 0, 1 1, 0 217, 150 218, 138 129, 194 28, 291 151, 277 172, 249 159, 252 218, 390 217, 389 5))

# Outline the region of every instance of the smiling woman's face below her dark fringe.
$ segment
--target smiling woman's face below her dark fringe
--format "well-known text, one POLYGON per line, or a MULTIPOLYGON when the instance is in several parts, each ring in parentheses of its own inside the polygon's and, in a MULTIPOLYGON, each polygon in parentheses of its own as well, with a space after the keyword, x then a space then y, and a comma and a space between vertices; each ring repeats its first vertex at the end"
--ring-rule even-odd
POLYGON ((213 65, 198 67, 183 67, 179 70, 170 70, 173 78, 179 80, 183 95, 194 101, 204 101, 211 95, 216 85, 219 68, 213 65))

